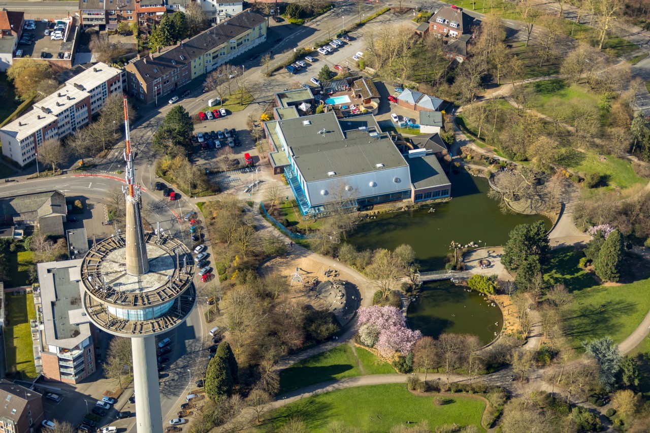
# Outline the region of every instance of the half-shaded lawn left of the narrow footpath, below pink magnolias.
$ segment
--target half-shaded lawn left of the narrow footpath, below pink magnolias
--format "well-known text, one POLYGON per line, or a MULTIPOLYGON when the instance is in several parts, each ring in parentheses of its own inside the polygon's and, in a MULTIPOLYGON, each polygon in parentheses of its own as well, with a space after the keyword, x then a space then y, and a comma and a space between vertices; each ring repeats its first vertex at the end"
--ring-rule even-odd
POLYGON ((361 376, 361 370, 352 347, 342 344, 282 370, 279 394, 321 382, 355 376, 361 376))

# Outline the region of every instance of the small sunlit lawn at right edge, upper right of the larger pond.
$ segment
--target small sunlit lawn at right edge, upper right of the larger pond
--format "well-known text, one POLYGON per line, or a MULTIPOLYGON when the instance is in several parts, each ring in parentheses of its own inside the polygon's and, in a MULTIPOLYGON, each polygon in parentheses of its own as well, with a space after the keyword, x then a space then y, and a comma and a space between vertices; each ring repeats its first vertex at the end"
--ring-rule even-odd
POLYGON ((638 183, 647 183, 647 179, 637 176, 632 169, 632 163, 627 159, 621 159, 612 155, 597 155, 595 151, 586 151, 582 153, 582 161, 575 166, 570 166, 571 170, 581 173, 596 173, 604 176, 604 183, 609 187, 619 187, 622 189, 632 187, 638 183), (601 161, 599 157, 606 158, 601 161))

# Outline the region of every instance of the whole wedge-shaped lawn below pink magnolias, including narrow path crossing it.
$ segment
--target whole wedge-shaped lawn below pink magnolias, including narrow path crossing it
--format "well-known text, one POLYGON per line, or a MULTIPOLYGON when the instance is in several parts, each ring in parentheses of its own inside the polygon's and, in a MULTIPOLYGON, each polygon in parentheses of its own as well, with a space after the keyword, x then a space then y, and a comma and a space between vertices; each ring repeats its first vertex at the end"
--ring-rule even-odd
POLYGON ((389 373, 396 373, 395 369, 369 350, 343 344, 281 371, 279 393, 329 380, 389 373))

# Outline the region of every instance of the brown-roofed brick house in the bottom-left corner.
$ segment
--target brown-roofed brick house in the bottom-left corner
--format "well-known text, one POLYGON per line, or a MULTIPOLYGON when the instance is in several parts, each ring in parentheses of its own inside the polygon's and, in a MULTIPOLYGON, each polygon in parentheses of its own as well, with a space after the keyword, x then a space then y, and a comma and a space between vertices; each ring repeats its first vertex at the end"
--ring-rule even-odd
POLYGON ((0 431, 32 433, 44 419, 43 395, 36 391, 0 380, 0 431))

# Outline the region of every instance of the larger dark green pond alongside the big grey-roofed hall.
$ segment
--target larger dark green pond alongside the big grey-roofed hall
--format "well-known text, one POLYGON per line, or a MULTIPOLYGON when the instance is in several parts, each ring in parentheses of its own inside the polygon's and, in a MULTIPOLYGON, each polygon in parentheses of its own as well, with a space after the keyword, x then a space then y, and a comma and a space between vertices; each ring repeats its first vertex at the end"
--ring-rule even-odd
POLYGON ((508 234, 518 224, 544 220, 547 228, 551 228, 549 219, 541 215, 501 213, 499 203, 487 196, 489 185, 484 177, 473 177, 460 170, 450 174, 449 179, 453 198, 435 205, 435 212, 429 212, 426 206, 417 211, 378 215, 359 224, 348 236, 348 242, 359 250, 392 250, 400 244, 409 244, 415 250, 421 270, 427 271, 445 267, 443 259, 450 252, 452 241, 499 246, 508 241, 508 234))

